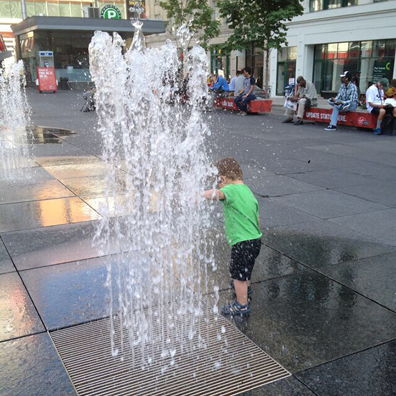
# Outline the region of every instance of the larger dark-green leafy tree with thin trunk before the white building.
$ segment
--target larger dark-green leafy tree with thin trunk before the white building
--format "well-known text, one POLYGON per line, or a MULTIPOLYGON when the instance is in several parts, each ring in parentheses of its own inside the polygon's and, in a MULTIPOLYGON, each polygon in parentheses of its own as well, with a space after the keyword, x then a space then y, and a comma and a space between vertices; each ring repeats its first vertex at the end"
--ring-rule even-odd
POLYGON ((226 48, 245 49, 247 44, 265 52, 265 94, 268 97, 270 53, 287 44, 286 22, 302 15, 302 0, 221 0, 220 15, 233 33, 226 48))

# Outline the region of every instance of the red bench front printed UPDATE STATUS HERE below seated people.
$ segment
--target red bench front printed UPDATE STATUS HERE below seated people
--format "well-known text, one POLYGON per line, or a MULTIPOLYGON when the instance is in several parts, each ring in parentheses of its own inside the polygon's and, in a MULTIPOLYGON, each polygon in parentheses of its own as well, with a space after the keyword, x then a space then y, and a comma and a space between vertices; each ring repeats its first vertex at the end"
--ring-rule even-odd
MULTIPOLYGON (((306 121, 324 122, 330 124, 331 108, 317 108, 311 107, 304 113, 306 121)), ((356 126, 356 128, 374 129, 377 126, 378 116, 368 113, 367 111, 349 111, 347 113, 340 113, 338 115, 337 125, 356 126)))

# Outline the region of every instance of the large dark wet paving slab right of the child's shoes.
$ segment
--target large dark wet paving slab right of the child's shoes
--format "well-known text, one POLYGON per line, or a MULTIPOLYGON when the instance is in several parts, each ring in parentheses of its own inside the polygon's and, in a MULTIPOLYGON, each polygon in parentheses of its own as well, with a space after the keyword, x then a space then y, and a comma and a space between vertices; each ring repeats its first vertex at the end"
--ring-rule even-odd
POLYGON ((256 283, 251 314, 232 321, 292 373, 396 337, 395 313, 315 271, 256 283))

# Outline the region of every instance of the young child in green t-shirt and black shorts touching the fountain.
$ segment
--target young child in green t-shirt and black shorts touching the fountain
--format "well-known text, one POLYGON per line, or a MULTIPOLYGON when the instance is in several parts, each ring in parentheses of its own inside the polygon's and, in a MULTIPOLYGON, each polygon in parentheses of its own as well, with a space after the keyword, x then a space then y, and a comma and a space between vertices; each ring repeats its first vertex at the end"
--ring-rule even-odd
POLYGON ((223 204, 227 243, 232 247, 230 274, 235 288, 236 301, 222 306, 224 315, 250 313, 248 295, 254 261, 261 249, 258 203, 253 193, 242 181, 242 169, 234 158, 223 158, 216 164, 218 190, 207 190, 203 197, 220 200, 223 204))

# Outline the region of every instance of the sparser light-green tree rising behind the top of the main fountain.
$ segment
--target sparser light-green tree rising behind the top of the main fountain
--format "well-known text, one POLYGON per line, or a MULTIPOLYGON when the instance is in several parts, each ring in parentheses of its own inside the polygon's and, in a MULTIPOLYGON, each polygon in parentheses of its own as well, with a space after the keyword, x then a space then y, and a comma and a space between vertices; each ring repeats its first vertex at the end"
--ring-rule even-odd
POLYGON ((220 34, 220 21, 213 17, 214 10, 208 6, 208 0, 164 0, 160 1, 160 7, 167 11, 167 31, 179 48, 181 45, 176 32, 182 25, 195 32, 194 38, 205 49, 208 42, 220 34))

